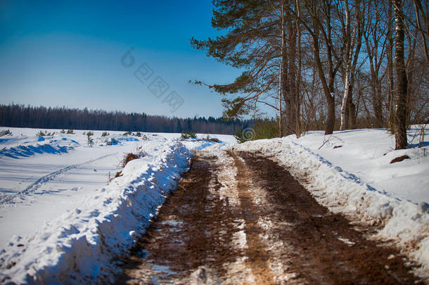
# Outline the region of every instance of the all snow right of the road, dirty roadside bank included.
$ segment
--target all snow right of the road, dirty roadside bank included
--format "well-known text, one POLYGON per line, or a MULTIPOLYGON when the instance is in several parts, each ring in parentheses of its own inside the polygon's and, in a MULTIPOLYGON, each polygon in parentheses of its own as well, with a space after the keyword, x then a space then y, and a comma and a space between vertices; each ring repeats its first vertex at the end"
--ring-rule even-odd
POLYGON ((380 225, 373 237, 395 240, 429 278, 429 126, 418 148, 421 127, 408 131, 412 147, 398 151, 385 129, 308 132, 233 148, 272 156, 333 212, 380 225), (390 163, 404 155, 409 159, 390 163))

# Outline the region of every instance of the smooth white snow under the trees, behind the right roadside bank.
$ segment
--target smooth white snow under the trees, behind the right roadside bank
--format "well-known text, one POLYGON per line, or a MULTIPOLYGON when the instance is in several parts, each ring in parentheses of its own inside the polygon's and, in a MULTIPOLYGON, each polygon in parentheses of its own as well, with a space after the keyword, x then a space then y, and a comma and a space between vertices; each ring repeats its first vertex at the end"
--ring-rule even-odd
POLYGON ((426 127, 424 147, 416 148, 420 131, 417 126, 409 129, 408 140, 413 141, 414 148, 402 151, 394 151, 395 137, 384 129, 335 132, 326 137, 323 132, 311 132, 291 141, 309 148, 379 191, 415 203, 429 203, 429 129, 426 127), (322 146, 324 141, 328 142, 322 146), (403 155, 411 159, 390 163, 403 155))

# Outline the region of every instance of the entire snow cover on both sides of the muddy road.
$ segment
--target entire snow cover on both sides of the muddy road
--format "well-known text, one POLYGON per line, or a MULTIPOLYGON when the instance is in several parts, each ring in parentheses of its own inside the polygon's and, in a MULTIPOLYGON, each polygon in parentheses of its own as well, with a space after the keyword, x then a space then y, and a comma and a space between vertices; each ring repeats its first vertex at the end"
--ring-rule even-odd
POLYGON ((18 283, 112 281, 112 258, 144 231, 188 169, 191 150, 225 148, 271 156, 334 213, 377 225, 373 238, 396 241, 421 262, 418 274, 429 277, 428 126, 423 139, 421 128, 411 127, 413 148, 400 151, 384 129, 308 132, 299 139, 245 144, 222 135, 210 135, 222 141, 216 144, 179 141, 180 134, 142 133, 148 138, 143 140, 95 131, 94 146, 83 130, 55 130, 41 139, 39 129, 10 129, 11 135, 0 137, 0 283, 6 276, 18 283), (112 139, 117 143, 106 146, 112 139), (142 158, 122 170, 120 162, 130 152, 142 158), (404 155, 409 159, 390 163, 404 155), (122 176, 108 182, 120 170, 122 176))

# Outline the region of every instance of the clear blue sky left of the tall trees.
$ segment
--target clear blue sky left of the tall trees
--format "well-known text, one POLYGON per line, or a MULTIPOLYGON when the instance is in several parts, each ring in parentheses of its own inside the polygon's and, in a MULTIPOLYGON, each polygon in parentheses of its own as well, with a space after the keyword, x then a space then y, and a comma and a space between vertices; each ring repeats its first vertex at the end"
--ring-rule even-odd
POLYGON ((240 72, 189 43, 219 32, 211 0, 0 2, 0 102, 177 117, 222 115, 221 96, 188 80, 226 83, 240 72), (121 58, 134 48, 134 65, 121 58), (139 81, 146 63, 153 75, 139 81), (169 89, 157 98, 157 77, 169 89), (172 109, 171 91, 183 99, 172 109))

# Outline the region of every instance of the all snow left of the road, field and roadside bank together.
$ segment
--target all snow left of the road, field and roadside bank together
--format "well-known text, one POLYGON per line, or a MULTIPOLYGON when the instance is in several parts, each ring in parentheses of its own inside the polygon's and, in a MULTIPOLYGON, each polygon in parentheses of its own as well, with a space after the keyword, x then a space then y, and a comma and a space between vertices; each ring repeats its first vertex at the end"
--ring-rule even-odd
POLYGON ((9 129, 0 137, 0 281, 17 283, 111 278, 111 258, 146 227, 187 169, 191 149, 213 144, 95 131, 89 146, 83 130, 39 137, 39 129, 9 129), (122 170, 125 153, 143 157, 122 170))

